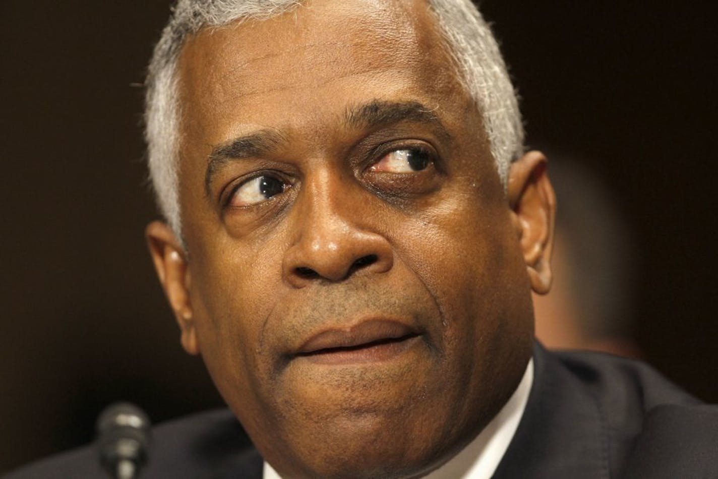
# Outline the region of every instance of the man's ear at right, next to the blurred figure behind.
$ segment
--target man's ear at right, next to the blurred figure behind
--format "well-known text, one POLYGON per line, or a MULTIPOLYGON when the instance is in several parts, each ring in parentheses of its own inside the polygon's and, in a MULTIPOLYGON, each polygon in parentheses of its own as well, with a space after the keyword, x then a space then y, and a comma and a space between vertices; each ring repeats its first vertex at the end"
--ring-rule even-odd
POLYGON ((508 177, 514 225, 531 288, 538 294, 551 289, 550 260, 556 218, 556 194, 546 172, 547 161, 541 152, 528 152, 513 162, 508 177))

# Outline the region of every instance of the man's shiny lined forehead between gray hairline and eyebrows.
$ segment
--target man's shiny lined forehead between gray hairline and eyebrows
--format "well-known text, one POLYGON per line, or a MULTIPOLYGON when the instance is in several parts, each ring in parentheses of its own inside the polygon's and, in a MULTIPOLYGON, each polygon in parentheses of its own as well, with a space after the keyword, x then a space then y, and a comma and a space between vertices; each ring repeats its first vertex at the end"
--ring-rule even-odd
MULTIPOLYGON (((315 0, 265 21, 204 29, 180 58, 183 126, 302 118, 370 96, 452 91, 454 69, 424 1, 315 0)), ((434 105, 434 106, 438 106, 434 105)))

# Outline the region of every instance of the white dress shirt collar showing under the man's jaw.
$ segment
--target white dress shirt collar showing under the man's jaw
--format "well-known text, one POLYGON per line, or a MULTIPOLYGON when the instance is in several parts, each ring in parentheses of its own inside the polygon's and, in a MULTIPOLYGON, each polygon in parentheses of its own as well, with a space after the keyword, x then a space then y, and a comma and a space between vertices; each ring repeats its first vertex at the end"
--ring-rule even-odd
MULTIPOLYGON (((531 383, 533 359, 528 361, 516 391, 475 440, 424 479, 489 479, 506 453, 513 434, 516 434, 518 422, 526 409, 531 383)), ((281 479, 267 462, 264 462, 264 479, 281 479)))

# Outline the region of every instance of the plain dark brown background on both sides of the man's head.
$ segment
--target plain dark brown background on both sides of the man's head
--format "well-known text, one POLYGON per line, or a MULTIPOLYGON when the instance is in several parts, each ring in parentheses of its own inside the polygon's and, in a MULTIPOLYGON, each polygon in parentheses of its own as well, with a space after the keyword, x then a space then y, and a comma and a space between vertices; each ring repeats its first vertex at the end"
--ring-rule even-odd
MULTIPOLYGON (((718 401, 717 7, 482 3, 528 143, 595 170, 634 225, 643 355, 718 401)), ((91 440, 117 399, 154 421, 221 404, 144 246, 139 84, 168 9, 0 1, 0 472, 91 440)))

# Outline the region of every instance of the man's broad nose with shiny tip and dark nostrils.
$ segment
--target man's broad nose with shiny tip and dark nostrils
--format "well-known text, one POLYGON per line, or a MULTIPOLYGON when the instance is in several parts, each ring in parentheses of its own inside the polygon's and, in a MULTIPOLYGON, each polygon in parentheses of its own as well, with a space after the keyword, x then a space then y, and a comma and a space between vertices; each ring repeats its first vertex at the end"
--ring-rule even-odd
POLYGON ((295 205, 295 239, 284 255, 284 277, 301 288, 341 282, 353 274, 391 270, 393 251, 372 228, 376 215, 361 191, 329 174, 307 179, 295 205))

